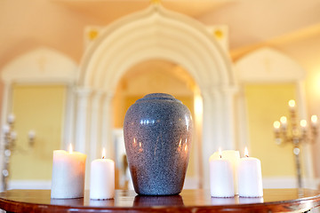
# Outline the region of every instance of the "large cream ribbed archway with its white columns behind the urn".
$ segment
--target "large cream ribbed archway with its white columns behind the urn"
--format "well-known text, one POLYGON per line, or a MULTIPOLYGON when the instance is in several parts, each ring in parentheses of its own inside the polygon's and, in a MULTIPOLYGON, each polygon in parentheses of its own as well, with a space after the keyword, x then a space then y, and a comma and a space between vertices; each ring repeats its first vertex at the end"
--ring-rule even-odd
MULTIPOLYGON (((90 150, 89 159, 97 154, 96 141, 112 150, 106 141, 112 139, 110 110, 116 84, 126 70, 147 59, 180 64, 198 84, 204 101, 201 164, 207 168, 210 154, 219 146, 234 147, 231 62, 204 25, 160 4, 117 20, 85 52, 78 77, 76 149, 90 150)), ((203 180, 209 187, 206 170, 203 180)))

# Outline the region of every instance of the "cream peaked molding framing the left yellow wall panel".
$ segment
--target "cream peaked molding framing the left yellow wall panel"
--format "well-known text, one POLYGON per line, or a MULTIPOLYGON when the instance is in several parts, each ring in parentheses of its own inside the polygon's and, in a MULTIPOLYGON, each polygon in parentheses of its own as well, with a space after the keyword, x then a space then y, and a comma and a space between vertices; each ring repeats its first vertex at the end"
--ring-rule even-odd
MULTIPOLYGON (((14 84, 47 85, 60 84, 66 86, 65 116, 61 135, 61 148, 72 141, 74 126, 74 87, 76 84, 76 71, 78 66, 73 59, 64 53, 49 47, 41 46, 25 52, 12 59, 2 70, 1 80, 4 83, 1 126, 7 123, 7 117, 12 113, 12 89, 14 84), (66 143, 66 144, 65 144, 66 143)), ((4 138, 4 132, 1 133, 4 138)), ((4 150, 4 141, 1 140, 0 149, 4 150)), ((3 170, 4 154, 0 154, 0 169, 3 170)), ((3 188, 3 175, 0 176, 0 185, 3 188)), ((37 181, 11 181, 10 187, 41 187, 50 188, 50 182, 37 181)))

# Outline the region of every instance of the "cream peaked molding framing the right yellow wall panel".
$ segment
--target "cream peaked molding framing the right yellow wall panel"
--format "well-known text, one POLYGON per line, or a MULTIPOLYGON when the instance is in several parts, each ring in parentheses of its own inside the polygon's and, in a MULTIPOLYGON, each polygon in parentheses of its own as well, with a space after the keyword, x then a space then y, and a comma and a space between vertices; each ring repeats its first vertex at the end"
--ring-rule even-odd
MULTIPOLYGON (((244 85, 246 83, 292 83, 295 85, 296 101, 299 106, 299 117, 307 119, 307 106, 304 90, 304 79, 306 71, 289 56, 281 51, 270 47, 263 47, 246 54, 243 58, 235 63, 236 78, 239 81, 239 92, 237 95, 237 114, 238 114, 238 135, 240 150, 244 146, 250 146, 248 136, 247 106, 244 94, 244 85)), ((308 144, 303 144, 303 168, 305 170, 304 185, 307 187, 316 187, 313 171, 312 153, 308 144)), ((272 177, 265 178, 266 187, 294 187, 295 178, 291 177, 272 177)))

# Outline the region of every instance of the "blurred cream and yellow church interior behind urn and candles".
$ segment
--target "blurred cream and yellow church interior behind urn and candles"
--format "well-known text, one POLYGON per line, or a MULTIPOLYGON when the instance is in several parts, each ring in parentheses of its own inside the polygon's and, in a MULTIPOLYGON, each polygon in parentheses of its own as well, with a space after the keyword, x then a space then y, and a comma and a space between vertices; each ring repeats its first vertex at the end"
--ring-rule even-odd
POLYGON ((50 189, 52 151, 69 144, 86 170, 106 148, 116 189, 132 189, 124 116, 155 92, 193 117, 185 189, 209 188, 220 147, 248 147, 265 188, 297 187, 298 150, 301 185, 319 189, 319 12, 319 0, 0 1, 2 190, 50 189), (276 143, 292 110, 307 136, 276 143))

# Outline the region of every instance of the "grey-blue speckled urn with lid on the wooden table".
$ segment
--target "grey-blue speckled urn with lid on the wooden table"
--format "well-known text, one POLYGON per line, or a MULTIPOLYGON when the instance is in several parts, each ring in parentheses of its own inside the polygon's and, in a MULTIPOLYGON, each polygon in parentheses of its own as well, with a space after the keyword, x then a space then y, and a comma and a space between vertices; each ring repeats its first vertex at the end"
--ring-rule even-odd
POLYGON ((172 95, 148 94, 130 106, 124 118, 124 143, 136 193, 181 192, 192 131, 188 107, 172 95))

